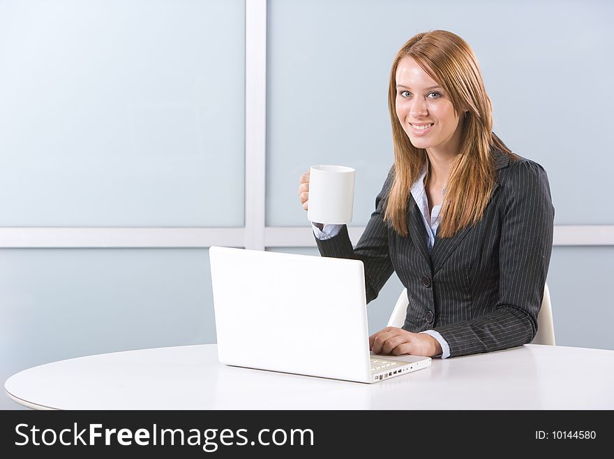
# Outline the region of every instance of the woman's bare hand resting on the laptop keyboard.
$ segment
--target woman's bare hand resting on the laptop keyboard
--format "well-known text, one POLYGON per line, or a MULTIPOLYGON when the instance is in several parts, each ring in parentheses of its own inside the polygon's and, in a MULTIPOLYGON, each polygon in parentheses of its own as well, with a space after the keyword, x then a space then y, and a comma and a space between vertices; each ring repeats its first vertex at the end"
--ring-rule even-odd
POLYGON ((403 328, 386 327, 369 337, 369 349, 375 354, 412 354, 433 357, 442 353, 441 344, 426 333, 411 333, 403 328))

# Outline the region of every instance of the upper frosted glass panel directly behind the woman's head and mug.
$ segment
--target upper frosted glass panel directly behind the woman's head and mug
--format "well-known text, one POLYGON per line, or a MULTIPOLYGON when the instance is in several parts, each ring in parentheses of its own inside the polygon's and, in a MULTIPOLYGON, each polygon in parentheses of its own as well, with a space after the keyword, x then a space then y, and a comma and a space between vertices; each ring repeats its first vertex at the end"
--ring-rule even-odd
POLYGON ((393 162, 387 85, 398 48, 447 29, 477 54, 495 131, 548 171, 556 224, 614 224, 614 3, 270 0, 267 224, 304 226, 299 175, 357 169, 364 225, 393 162))

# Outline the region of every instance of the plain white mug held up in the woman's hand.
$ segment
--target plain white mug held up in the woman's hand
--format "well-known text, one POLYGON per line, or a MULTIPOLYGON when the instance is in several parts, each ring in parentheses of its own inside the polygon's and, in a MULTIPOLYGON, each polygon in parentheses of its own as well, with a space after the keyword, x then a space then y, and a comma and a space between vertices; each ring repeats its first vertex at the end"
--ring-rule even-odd
POLYGON ((346 166, 311 166, 307 219, 313 223, 350 223, 355 175, 356 170, 346 166))

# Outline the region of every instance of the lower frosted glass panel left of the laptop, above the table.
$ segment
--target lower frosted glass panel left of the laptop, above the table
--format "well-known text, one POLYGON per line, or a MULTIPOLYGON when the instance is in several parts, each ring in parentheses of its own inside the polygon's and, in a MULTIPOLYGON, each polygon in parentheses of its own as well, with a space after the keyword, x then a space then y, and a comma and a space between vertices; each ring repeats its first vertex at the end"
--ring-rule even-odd
POLYGON ((209 250, 2 249, 0 318, 0 381, 65 358, 214 343, 209 250))

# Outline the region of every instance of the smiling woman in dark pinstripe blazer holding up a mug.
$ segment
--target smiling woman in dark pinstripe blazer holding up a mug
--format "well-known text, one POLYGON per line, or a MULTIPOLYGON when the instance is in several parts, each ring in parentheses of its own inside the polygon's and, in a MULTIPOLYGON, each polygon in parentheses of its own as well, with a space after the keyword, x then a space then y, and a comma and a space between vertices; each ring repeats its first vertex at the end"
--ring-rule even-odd
MULTIPOLYGON (((531 342, 553 240, 544 168, 495 136, 477 59, 449 31, 403 45, 388 94, 394 166, 357 246, 345 226, 314 223, 322 256, 363 261, 367 302, 392 272, 407 287, 403 328, 370 348, 447 358, 531 342)), ((308 190, 306 173, 305 210, 308 190)))

